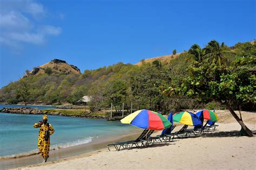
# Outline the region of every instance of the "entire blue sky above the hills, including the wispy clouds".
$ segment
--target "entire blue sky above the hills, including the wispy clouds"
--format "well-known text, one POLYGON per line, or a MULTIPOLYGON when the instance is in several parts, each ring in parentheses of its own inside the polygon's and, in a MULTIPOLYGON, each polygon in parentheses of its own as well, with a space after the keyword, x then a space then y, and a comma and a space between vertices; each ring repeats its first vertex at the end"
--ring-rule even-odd
POLYGON ((85 69, 255 39, 255 1, 0 1, 0 87, 52 59, 85 69))

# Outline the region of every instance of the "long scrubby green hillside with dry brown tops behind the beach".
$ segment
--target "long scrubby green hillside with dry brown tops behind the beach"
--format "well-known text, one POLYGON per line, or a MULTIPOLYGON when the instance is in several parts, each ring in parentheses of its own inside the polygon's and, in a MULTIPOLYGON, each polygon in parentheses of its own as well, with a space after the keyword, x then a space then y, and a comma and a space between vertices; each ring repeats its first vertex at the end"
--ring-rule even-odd
MULTIPOLYGON (((255 56, 254 42, 238 43, 232 49, 225 46, 232 53, 223 56, 224 64, 231 65, 241 53, 255 56)), ((0 100, 10 104, 77 104, 81 97, 89 95, 92 96, 91 110, 109 107, 110 103, 117 106, 123 102, 133 102, 155 110, 169 110, 174 106, 199 107, 202 103, 195 103, 194 100, 182 102, 186 100, 185 96, 170 97, 165 94, 170 84, 180 86, 188 68, 198 62, 201 61, 197 61, 188 50, 176 55, 145 59, 136 65, 119 62, 109 67, 85 70, 81 74, 76 66, 54 59, 31 71, 27 70, 22 79, 3 87, 0 100)))

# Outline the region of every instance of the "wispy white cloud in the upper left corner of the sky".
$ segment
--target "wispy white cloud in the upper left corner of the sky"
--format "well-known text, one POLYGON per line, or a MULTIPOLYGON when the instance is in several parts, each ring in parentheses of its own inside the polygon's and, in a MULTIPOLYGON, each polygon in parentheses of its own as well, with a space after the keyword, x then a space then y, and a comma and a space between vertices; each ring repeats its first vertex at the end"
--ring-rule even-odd
POLYGON ((16 49, 23 43, 42 45, 47 37, 58 36, 62 32, 60 27, 40 24, 38 18, 45 17, 46 13, 40 3, 3 0, 0 5, 0 45, 16 49))

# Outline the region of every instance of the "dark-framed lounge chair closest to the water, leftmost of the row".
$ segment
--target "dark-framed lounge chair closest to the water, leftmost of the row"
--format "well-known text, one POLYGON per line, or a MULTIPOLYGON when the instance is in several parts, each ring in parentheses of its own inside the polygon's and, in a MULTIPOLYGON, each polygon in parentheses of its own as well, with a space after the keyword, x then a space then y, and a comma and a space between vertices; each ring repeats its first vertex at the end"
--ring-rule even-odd
POLYGON ((133 145, 135 145, 136 147, 139 147, 139 143, 146 138, 146 134, 147 132, 149 132, 149 129, 145 129, 142 134, 140 134, 140 136, 135 139, 135 140, 129 140, 129 141, 119 141, 119 142, 116 142, 116 143, 113 143, 113 144, 109 144, 107 145, 107 148, 109 149, 110 151, 110 146, 114 146, 114 148, 116 148, 117 151, 120 151, 120 150, 125 150, 126 148, 132 148, 133 145))

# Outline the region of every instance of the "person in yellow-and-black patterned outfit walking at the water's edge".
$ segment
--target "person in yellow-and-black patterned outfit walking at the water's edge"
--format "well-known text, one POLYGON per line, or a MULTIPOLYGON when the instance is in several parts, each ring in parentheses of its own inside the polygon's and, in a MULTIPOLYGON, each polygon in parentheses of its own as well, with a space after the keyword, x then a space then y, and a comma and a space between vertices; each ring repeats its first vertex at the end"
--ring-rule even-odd
POLYGON ((43 162, 46 162, 49 158, 50 150, 50 135, 54 133, 54 129, 51 124, 47 123, 48 116, 43 116, 43 122, 39 121, 34 124, 34 128, 40 128, 38 135, 38 149, 42 157, 44 158, 43 162))

